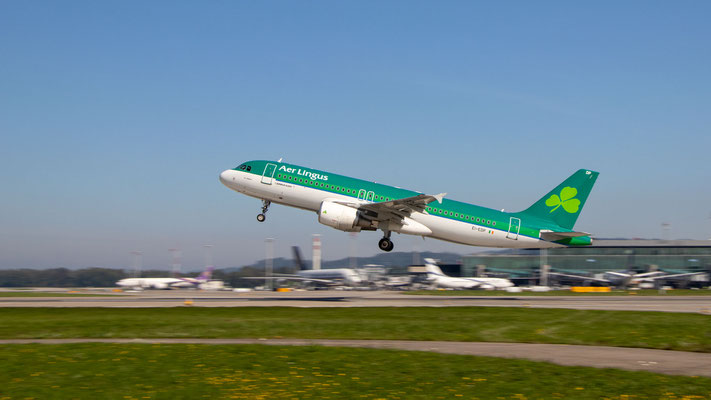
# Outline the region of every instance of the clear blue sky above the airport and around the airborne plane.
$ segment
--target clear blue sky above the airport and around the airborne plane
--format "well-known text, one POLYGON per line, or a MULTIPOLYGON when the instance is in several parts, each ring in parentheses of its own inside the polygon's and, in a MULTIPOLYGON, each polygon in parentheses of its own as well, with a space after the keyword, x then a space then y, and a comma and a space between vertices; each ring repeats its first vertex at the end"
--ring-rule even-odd
MULTIPOLYGON (((0 268, 218 267, 315 214, 218 181, 250 159, 519 210, 601 175, 577 229, 711 237, 705 1, 0 3, 0 268)), ((361 233, 360 254, 379 234, 361 233)), ((404 235, 396 250, 477 250, 404 235)))

